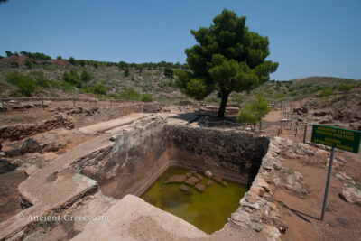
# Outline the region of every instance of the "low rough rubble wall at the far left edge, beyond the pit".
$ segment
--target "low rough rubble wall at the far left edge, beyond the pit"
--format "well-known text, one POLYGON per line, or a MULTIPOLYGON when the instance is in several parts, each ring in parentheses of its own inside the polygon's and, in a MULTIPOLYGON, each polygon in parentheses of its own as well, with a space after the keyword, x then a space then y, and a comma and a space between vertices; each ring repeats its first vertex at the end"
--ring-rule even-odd
POLYGON ((0 127, 0 142, 21 140, 25 137, 43 133, 57 128, 74 128, 74 124, 64 115, 57 115, 39 124, 19 124, 0 127))

